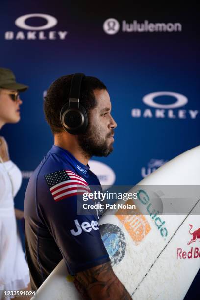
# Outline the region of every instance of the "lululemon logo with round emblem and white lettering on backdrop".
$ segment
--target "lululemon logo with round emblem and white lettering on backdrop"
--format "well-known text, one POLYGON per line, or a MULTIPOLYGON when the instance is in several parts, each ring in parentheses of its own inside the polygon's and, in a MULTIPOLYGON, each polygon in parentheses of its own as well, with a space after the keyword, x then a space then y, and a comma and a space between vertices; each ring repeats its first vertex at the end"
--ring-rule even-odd
POLYGON ((181 23, 149 23, 145 20, 143 23, 138 23, 137 20, 133 20, 132 23, 127 23, 126 20, 121 22, 121 26, 118 20, 109 18, 103 23, 103 30, 107 34, 116 34, 121 27, 122 32, 181 32, 181 23))

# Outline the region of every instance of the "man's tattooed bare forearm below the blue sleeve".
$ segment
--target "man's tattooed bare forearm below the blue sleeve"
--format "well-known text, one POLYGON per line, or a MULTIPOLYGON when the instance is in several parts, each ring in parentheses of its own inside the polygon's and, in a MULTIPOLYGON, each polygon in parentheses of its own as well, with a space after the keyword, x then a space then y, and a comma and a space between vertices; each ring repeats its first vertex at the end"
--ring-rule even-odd
POLYGON ((131 297, 119 281, 109 263, 79 272, 75 275, 92 300, 130 300, 131 297))

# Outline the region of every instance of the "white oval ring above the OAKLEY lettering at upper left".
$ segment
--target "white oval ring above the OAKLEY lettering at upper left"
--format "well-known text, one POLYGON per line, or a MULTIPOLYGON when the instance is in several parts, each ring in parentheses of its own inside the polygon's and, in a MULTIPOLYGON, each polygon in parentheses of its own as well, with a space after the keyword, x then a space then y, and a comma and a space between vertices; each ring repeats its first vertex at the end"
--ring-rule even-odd
POLYGON ((55 26, 57 23, 58 21, 55 17, 46 14, 28 14, 28 15, 21 16, 15 20, 16 26, 26 30, 45 30, 55 26), (27 19, 33 17, 43 18, 47 21, 47 24, 43 26, 29 26, 25 24, 25 21, 27 19))

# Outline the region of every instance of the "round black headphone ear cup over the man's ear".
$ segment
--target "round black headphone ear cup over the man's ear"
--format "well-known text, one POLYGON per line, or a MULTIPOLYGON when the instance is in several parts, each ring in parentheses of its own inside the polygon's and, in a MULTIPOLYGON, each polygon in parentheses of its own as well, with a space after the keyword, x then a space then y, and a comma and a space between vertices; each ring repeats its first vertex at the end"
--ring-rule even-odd
POLYGON ((60 112, 60 121, 63 128, 71 134, 84 133, 88 125, 85 108, 79 103, 79 109, 70 108, 65 104, 60 112))

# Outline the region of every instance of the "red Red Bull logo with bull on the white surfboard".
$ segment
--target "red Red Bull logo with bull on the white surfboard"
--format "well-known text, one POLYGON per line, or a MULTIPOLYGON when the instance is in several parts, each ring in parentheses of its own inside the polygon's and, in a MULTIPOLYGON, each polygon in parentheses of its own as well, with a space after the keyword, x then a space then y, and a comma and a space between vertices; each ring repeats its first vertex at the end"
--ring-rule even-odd
MULTIPOLYGON (((200 228, 198 228, 197 230, 193 230, 193 232, 191 232, 193 225, 189 224, 189 226, 190 226, 189 234, 192 235, 192 238, 188 241, 187 245, 190 245, 191 243, 195 243, 197 241, 200 242, 200 228)), ((185 249, 185 251, 183 251, 181 247, 177 248, 177 259, 191 259, 191 258, 200 258, 199 247, 190 247, 189 249, 185 249)))

